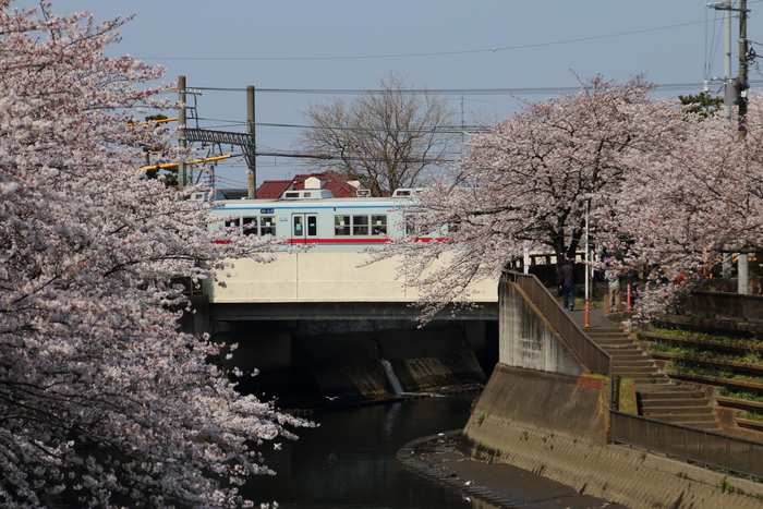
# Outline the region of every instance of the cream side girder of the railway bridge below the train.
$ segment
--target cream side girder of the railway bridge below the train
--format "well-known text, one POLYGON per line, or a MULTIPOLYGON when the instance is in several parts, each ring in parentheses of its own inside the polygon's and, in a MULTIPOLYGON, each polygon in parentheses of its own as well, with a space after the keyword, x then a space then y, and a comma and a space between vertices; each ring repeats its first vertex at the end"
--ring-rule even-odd
MULTIPOLYGON (((225 287, 207 284, 213 320, 414 318, 420 291, 395 278, 399 258, 363 266, 355 252, 281 253, 263 264, 235 260, 225 287)), ((445 262, 443 262, 445 263, 445 262)), ((480 307, 441 319, 497 319, 498 281, 470 287, 480 307)))

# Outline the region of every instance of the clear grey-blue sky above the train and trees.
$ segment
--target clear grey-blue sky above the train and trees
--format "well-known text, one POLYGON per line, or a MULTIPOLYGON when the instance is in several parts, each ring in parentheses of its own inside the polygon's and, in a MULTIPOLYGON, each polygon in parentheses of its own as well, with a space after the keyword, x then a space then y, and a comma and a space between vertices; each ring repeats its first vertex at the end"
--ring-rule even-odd
MULTIPOLYGON (((763 0, 748 9, 748 38, 763 43, 763 0)), ((88 11, 97 21, 136 14, 110 54, 161 64, 167 82, 182 74, 191 88, 234 88, 197 97, 203 128, 243 132, 243 90, 254 85, 257 144, 266 152, 296 148, 299 129, 272 124, 301 125, 311 102, 375 88, 390 72, 445 90, 459 117, 463 97, 464 123, 473 124, 511 116, 520 107, 512 95, 574 92, 576 74, 645 73, 663 86, 659 95, 675 96, 702 92, 703 80, 724 69, 723 14, 701 0, 53 0, 53 11, 88 11)), ((736 20, 732 34, 736 75, 736 20)), ((763 83, 756 66, 750 80, 763 83)), ((257 180, 308 172, 304 165, 261 157, 257 180)), ((218 175, 219 187, 245 186, 240 158, 220 163, 218 175)))

